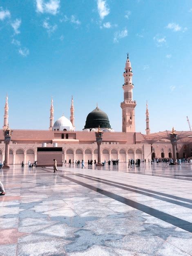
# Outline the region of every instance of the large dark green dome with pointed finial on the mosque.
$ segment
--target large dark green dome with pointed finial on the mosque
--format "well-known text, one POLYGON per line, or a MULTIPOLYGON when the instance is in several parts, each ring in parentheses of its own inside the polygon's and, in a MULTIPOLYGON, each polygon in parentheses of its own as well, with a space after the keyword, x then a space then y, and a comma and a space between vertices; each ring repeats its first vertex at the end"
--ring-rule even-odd
POLYGON ((99 126, 100 128, 111 128, 107 114, 96 107, 87 116, 84 129, 98 128, 99 126))

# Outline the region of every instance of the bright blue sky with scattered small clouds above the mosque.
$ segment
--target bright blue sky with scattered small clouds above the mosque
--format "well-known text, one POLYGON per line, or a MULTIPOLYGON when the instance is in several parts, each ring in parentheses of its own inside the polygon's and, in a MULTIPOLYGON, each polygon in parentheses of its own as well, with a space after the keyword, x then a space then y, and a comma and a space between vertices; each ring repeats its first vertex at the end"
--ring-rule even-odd
POLYGON ((69 118, 76 130, 98 102, 121 131, 126 53, 134 73, 136 131, 189 130, 192 123, 192 1, 0 0, 0 126, 9 96, 11 128, 48 129, 69 118))

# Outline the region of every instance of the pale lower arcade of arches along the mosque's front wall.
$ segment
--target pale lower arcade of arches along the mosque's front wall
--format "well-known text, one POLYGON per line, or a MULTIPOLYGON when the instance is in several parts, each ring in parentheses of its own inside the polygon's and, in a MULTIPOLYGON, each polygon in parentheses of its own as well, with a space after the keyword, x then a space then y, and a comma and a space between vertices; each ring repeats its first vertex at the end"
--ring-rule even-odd
MULTIPOLYGON (((37 147, 41 147, 42 144, 14 144, 11 141, 10 144, 10 153, 9 154, 9 164, 21 164, 24 161, 25 164, 30 160, 31 164, 35 160, 37 160, 37 147)), ((53 144, 47 144, 47 147, 52 147, 53 144)), ((84 159, 85 163, 90 161, 91 159, 98 159, 97 156, 97 144, 74 144, 74 145, 59 145, 63 148, 63 161, 69 163, 69 159, 71 159, 71 163, 75 162, 75 160, 84 159)), ((151 149, 151 146, 146 144, 145 147, 151 149)), ((122 145, 121 144, 106 144, 105 142, 101 145, 101 160, 104 162, 108 161, 108 159, 119 159, 120 162, 127 162, 127 159, 133 158, 136 159, 138 154, 137 150, 141 150, 141 155, 144 154, 144 146, 138 145, 122 145), (130 154, 129 152, 132 152, 130 154)), ((146 151, 146 150, 145 150, 146 151)), ((5 145, 4 143, 0 144, 0 159, 4 159, 5 145)), ((141 157, 143 159, 143 157, 141 157)))

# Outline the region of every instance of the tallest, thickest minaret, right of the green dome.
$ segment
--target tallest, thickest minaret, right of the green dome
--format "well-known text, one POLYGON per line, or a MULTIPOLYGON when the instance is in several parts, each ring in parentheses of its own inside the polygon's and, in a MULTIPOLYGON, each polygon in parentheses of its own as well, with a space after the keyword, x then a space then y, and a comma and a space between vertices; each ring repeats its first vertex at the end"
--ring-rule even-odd
POLYGON ((135 132, 135 107, 136 101, 133 100, 132 67, 127 53, 125 72, 123 73, 125 83, 123 84, 124 101, 121 102, 122 108, 122 132, 135 132))

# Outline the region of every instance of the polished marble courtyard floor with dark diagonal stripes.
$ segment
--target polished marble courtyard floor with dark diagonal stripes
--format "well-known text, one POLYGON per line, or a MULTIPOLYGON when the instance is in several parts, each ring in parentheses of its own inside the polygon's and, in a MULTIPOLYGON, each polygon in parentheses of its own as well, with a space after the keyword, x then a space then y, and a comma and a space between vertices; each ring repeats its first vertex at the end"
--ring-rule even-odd
POLYGON ((1 256, 192 255, 189 164, 10 166, 0 180, 1 256))

